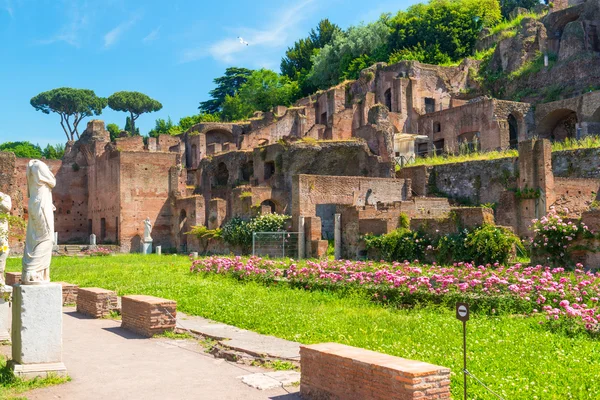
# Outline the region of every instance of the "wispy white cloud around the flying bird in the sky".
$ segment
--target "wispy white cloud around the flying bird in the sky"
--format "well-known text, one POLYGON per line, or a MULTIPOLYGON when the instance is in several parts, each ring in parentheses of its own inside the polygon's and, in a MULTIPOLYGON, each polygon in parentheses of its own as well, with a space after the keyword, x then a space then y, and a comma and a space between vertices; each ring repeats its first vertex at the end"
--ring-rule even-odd
POLYGON ((267 50, 285 46, 290 32, 307 16, 306 8, 315 0, 304 0, 294 7, 282 9, 274 22, 265 30, 238 28, 230 38, 219 40, 209 46, 186 49, 181 56, 181 62, 190 62, 202 57, 212 56, 215 60, 227 64, 235 62, 241 53, 257 50, 267 50), (241 36, 249 45, 246 46, 237 39, 241 36))

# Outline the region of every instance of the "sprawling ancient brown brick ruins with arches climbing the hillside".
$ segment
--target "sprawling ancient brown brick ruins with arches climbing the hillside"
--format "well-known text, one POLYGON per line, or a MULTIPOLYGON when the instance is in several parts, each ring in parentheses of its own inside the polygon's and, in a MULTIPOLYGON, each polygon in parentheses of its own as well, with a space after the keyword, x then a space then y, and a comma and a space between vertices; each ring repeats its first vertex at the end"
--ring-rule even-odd
MULTIPOLYGON (((587 68, 584 74, 579 59, 566 54, 579 49, 597 59, 600 31, 593 21, 600 11, 594 2, 572 3, 556 3, 542 20, 524 19, 527 34, 515 37, 527 40, 533 34, 529 25, 535 25, 533 47, 523 49, 515 38, 501 40, 491 62, 510 71, 532 51, 553 49, 566 61, 548 72, 551 79, 571 82, 561 69, 567 65, 583 82, 594 81, 600 69, 587 68), (569 35, 575 25, 586 33, 579 41, 569 35), (522 57, 516 59, 516 53, 522 57)), ((491 43, 482 34, 478 48, 491 43)), ((62 160, 47 161, 57 177, 59 243, 87 244, 94 233, 100 245, 139 252, 142 221, 150 217, 155 246, 198 251, 197 240, 185 235, 194 225, 216 228, 234 216, 277 212, 293 217, 292 229, 304 229, 306 255, 320 256, 323 241, 333 238, 334 215, 340 214, 342 255, 356 257, 364 250, 361 235, 395 229, 400 213, 420 226, 420 220, 439 219, 465 200, 475 206, 498 204, 495 216, 475 211, 465 217, 467 224, 495 220, 520 235, 527 235, 531 218, 551 205, 580 216, 600 188, 598 150, 553 154, 549 142, 537 139, 600 134, 600 91, 581 89, 535 107, 495 99, 482 95, 473 74, 479 64, 469 59, 451 67, 379 63, 358 80, 292 107, 276 107, 241 123, 201 123, 181 135, 146 142, 139 136, 111 142, 104 123, 90 121, 81 139, 68 143, 62 160), (513 148, 520 156, 396 173, 397 165, 415 157, 461 146, 513 148), (517 198, 514 189, 541 196, 517 198)), ((531 87, 543 87, 545 79, 550 78, 532 76, 531 87)), ((27 212, 27 161, 0 153, 0 191, 12 196, 13 212, 21 216, 27 212)), ((13 245, 18 251, 19 244, 13 245)))

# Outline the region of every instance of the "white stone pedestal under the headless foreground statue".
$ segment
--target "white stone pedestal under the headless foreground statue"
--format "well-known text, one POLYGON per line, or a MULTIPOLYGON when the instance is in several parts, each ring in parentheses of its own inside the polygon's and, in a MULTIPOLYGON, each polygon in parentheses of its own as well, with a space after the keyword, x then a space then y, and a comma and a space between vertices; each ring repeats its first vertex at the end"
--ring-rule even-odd
POLYGON ((12 360, 23 378, 66 375, 62 363, 62 286, 58 283, 14 286, 12 360))

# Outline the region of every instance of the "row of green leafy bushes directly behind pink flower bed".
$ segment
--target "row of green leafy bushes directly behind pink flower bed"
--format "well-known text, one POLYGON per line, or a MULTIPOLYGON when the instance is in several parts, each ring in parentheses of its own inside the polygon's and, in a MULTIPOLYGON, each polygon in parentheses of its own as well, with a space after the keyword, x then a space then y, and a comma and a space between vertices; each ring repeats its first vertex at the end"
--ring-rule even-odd
POLYGON ((442 264, 506 264, 515 250, 525 252, 512 231, 490 224, 437 236, 403 227, 384 235, 365 235, 364 240, 367 249, 386 261, 435 259, 442 264))

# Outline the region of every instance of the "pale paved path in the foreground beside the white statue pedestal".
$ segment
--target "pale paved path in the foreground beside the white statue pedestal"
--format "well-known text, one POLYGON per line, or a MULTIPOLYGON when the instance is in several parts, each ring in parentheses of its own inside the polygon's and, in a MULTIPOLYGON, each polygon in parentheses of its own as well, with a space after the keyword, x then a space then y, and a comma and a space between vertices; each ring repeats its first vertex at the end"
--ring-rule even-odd
POLYGON ((297 387, 260 391, 240 377, 264 369, 204 353, 192 340, 145 339, 120 321, 64 309, 63 360, 72 381, 25 393, 30 400, 297 400, 297 387), (290 393, 291 392, 291 393, 290 393))

